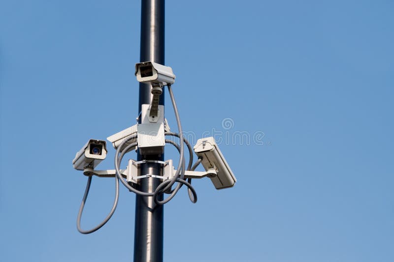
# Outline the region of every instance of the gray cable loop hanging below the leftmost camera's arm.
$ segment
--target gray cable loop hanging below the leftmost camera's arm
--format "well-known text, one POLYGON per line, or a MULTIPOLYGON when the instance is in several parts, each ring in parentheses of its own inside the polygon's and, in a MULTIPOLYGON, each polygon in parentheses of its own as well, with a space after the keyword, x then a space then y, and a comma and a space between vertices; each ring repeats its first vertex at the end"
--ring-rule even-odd
POLYGON ((83 195, 81 206, 79 207, 78 216, 77 216, 77 229, 82 234, 93 233, 94 231, 99 230, 102 226, 104 226, 108 222, 108 220, 112 217, 112 215, 114 214, 116 206, 118 205, 118 200, 119 200, 119 180, 117 177, 115 177, 115 200, 112 205, 111 211, 97 227, 90 229, 90 230, 81 229, 82 212, 83 212, 83 208, 85 206, 86 199, 88 198, 91 183, 92 183, 92 176, 89 176, 88 183, 86 184, 85 194, 83 195))

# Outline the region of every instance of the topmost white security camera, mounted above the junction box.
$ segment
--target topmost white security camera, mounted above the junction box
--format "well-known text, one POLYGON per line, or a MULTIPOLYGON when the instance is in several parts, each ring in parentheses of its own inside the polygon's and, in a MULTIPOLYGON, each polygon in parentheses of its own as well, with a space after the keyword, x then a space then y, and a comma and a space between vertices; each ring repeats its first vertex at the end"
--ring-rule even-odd
POLYGON ((135 64, 135 75, 138 82, 150 82, 152 85, 166 86, 175 82, 171 67, 150 61, 135 64))

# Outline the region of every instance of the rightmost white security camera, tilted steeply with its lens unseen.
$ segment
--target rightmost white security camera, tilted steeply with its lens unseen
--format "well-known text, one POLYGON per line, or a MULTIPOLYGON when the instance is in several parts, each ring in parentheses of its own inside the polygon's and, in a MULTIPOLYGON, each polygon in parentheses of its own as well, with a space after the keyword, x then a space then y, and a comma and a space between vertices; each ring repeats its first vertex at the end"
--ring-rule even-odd
POLYGON ((216 176, 209 176, 216 189, 235 185, 237 180, 212 136, 198 139, 193 149, 198 157, 202 157, 201 164, 205 171, 212 169, 216 171, 216 176))

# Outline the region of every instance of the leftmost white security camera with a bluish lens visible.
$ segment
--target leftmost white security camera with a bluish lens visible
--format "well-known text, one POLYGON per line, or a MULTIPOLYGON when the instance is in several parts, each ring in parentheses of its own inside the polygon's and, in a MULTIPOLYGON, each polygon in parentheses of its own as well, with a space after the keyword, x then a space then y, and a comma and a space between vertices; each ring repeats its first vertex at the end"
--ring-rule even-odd
POLYGON ((76 170, 95 168, 107 156, 104 140, 90 139, 75 155, 72 164, 76 170))

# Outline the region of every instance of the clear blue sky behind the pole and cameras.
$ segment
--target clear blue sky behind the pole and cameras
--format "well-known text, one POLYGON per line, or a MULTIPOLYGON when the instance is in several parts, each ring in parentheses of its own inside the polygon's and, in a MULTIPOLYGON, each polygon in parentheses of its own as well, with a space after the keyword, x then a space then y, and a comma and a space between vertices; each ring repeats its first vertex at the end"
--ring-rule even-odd
MULTIPOLYGON (((195 181, 196 204, 182 189, 165 205, 164 261, 393 262, 394 2, 167 0, 165 14, 183 128, 221 139, 238 182, 195 181)), ((132 260, 134 195, 78 233, 71 161, 135 123, 139 31, 138 0, 0 2, 1 261, 132 260)), ((93 178, 84 228, 113 196, 93 178)))

